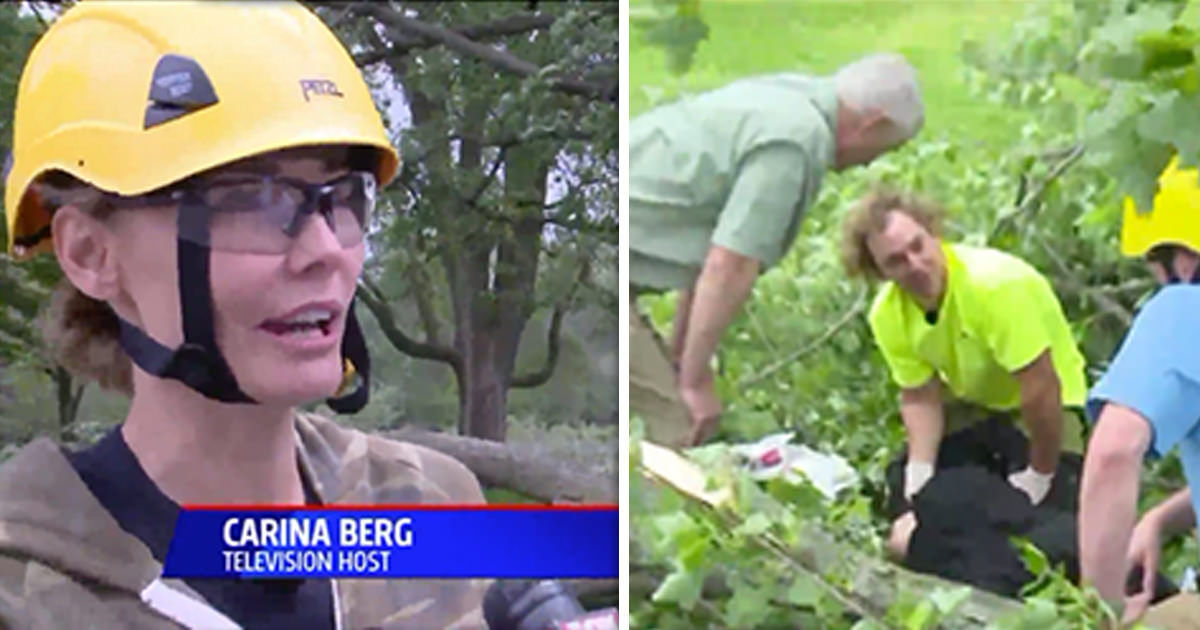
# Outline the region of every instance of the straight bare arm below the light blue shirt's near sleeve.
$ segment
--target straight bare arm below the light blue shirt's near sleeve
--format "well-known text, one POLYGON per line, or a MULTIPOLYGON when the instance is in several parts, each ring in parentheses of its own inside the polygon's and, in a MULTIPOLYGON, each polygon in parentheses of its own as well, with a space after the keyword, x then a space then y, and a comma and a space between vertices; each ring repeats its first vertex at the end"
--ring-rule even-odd
POLYGON ((1109 403, 1087 446, 1079 504, 1079 569, 1085 583, 1114 605, 1124 599, 1126 556, 1138 515, 1141 461, 1150 424, 1138 412, 1109 403))

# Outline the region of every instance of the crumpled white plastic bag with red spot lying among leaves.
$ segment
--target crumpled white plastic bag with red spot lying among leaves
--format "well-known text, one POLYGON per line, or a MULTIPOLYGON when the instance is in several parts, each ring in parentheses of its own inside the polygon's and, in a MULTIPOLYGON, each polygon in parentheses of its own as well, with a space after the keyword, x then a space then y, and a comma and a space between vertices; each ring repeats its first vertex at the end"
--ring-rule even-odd
POLYGON ((858 484, 858 473, 846 460, 804 444, 791 444, 793 437, 794 433, 775 433, 754 444, 734 445, 732 450, 739 456, 743 468, 758 481, 782 476, 799 484, 808 478, 828 499, 858 484))

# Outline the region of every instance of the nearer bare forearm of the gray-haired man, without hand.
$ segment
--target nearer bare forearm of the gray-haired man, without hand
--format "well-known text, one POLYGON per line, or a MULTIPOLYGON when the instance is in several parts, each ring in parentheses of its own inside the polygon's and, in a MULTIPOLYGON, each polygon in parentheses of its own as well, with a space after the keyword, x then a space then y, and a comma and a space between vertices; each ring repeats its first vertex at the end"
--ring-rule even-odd
POLYGON ((679 386, 695 389, 712 379, 709 361, 733 317, 750 296, 758 260, 719 245, 712 246, 696 278, 679 361, 679 386))

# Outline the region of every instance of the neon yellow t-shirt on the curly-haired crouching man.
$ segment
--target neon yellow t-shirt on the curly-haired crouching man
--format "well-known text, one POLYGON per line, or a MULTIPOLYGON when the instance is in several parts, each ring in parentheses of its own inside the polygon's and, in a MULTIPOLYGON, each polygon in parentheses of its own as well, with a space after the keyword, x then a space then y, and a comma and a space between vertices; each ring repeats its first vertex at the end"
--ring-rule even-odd
MULTIPOLYGON (((871 332, 896 384, 916 388, 936 374, 959 400, 998 412, 1020 409, 1013 372, 1050 348, 1063 406, 1082 407, 1085 360, 1045 277, 998 250, 942 244, 942 251, 948 287, 935 324, 893 282, 871 305, 871 332)), ((1064 433, 1064 446, 1073 437, 1064 433)))

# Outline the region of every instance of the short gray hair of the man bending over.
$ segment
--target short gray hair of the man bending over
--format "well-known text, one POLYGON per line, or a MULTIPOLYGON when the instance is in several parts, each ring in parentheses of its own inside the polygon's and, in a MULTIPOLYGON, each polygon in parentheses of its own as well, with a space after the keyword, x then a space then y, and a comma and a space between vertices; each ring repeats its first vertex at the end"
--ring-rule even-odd
POLYGON ((895 53, 878 53, 847 64, 834 74, 838 98, 854 112, 878 112, 911 139, 925 121, 917 71, 895 53))

